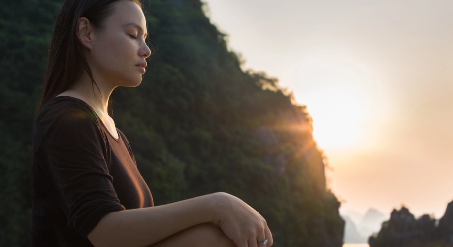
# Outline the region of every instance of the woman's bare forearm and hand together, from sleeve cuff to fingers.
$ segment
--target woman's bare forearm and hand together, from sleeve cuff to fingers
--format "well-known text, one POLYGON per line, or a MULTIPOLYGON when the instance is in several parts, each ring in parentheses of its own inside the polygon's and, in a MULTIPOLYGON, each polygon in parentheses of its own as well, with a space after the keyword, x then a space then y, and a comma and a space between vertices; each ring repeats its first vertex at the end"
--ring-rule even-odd
POLYGON ((192 226, 213 222, 239 247, 257 246, 272 234, 264 218, 240 199, 214 193, 143 209, 111 212, 88 234, 96 247, 150 246, 192 226))

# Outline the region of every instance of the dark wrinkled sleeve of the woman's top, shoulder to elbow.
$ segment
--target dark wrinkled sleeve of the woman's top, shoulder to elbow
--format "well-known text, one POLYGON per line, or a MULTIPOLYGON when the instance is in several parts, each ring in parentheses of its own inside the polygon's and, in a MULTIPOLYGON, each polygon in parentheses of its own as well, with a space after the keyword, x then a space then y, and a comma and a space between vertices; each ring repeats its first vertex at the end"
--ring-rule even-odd
POLYGON ((125 210, 104 158, 105 139, 90 114, 69 110, 58 116, 41 151, 69 228, 87 236, 105 214, 125 210))

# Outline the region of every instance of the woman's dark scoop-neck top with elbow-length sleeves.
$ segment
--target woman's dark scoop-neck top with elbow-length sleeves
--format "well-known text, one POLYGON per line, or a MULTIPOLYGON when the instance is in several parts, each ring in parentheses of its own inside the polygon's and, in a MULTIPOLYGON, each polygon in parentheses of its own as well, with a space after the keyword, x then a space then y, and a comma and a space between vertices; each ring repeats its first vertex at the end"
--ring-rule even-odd
POLYGON ((33 247, 89 246, 107 213, 153 206, 124 134, 113 137, 84 101, 60 96, 39 112, 33 135, 33 247))

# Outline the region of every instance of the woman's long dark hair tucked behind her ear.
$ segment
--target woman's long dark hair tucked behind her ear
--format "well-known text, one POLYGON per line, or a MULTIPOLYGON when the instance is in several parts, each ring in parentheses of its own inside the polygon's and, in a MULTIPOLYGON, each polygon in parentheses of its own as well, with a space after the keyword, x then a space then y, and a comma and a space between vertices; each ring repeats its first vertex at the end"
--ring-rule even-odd
MULTIPOLYGON (((83 70, 90 76, 93 90, 95 86, 97 87, 76 33, 77 23, 80 17, 85 17, 93 26, 102 29, 105 18, 115 10, 113 3, 117 1, 120 0, 65 0, 63 2, 55 20, 44 88, 37 113, 48 100, 69 89, 82 75, 83 70)), ((130 1, 142 8, 140 0, 130 1)))

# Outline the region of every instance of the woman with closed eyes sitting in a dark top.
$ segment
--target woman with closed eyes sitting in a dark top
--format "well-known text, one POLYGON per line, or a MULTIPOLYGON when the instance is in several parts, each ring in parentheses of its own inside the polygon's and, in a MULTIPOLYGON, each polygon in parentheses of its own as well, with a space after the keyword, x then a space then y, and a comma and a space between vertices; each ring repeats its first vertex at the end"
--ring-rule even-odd
POLYGON ((214 193, 153 206, 126 137, 107 114, 151 52, 139 0, 65 0, 33 136, 32 246, 260 247, 264 218, 214 193))

